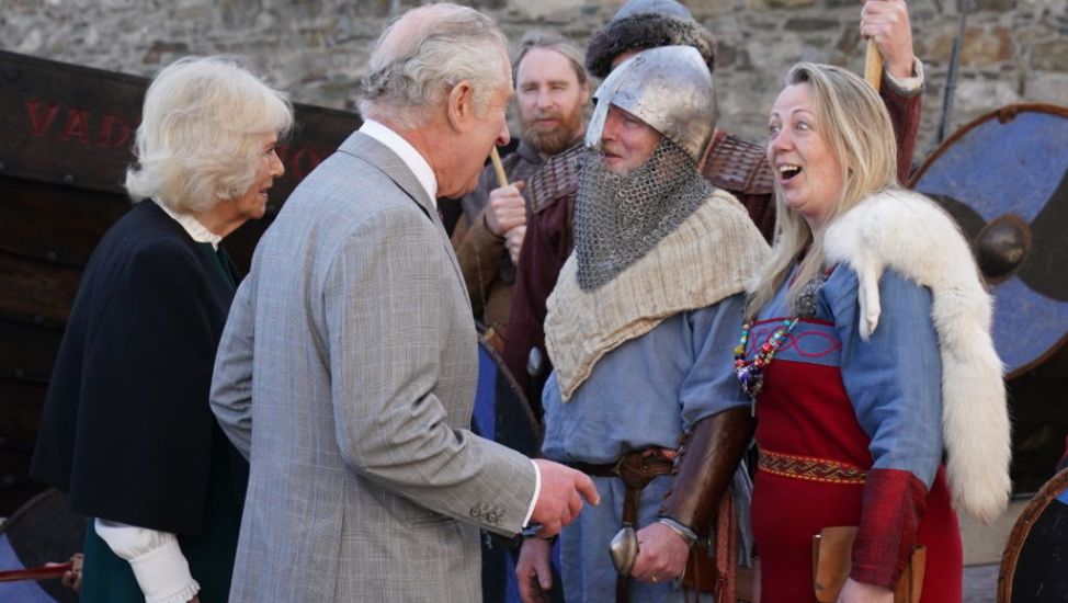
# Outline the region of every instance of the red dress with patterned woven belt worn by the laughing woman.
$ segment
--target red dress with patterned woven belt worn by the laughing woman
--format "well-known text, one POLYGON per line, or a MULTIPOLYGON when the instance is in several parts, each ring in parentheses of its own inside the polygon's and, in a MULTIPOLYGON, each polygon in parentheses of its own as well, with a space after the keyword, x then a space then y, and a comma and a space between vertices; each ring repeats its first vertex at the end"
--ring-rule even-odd
MULTIPOLYGON (((747 359, 784 318, 753 325, 747 359)), ((815 601, 813 536, 823 527, 863 523, 870 538, 859 544, 857 533, 854 569, 865 560, 893 568, 905 556, 879 545, 910 546, 908 533, 914 532, 914 542, 928 547, 922 601, 961 601, 961 538, 944 470, 939 467, 929 491, 908 470, 872 471, 872 439, 842 378, 842 357, 853 352, 843 353, 840 325, 833 318, 799 321, 765 369, 757 401, 761 462, 752 508, 762 599, 815 601)))

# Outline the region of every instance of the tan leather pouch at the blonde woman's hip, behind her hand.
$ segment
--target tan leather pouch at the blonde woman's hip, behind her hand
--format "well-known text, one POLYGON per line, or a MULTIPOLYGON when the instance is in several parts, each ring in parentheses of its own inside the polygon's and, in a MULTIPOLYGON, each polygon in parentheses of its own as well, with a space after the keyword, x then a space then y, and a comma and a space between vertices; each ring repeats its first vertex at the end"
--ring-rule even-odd
MULTIPOLYGON (((813 536, 813 588, 820 603, 834 603, 852 569, 856 526, 825 527, 813 536)), ((905 572, 894 589, 894 603, 917 603, 923 588, 927 547, 913 545, 905 572)))

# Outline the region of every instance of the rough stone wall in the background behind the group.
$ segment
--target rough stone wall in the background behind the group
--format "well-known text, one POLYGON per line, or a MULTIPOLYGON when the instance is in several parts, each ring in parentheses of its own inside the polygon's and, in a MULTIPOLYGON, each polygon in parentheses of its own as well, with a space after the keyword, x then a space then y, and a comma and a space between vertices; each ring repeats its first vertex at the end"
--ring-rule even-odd
MULTIPOLYGON (((927 68, 916 160, 936 144, 962 0, 910 0, 927 68)), ((1068 104, 1068 0, 969 0, 950 132, 998 106, 1068 104)), ((0 48, 151 76, 188 54, 251 57, 298 102, 353 106, 383 24, 417 0, 0 0, 0 48)), ((580 44, 622 0, 471 0, 509 37, 530 27, 580 44)), ((859 0, 688 0, 718 41, 716 77, 728 132, 762 139, 766 112, 795 61, 863 69, 859 0)))

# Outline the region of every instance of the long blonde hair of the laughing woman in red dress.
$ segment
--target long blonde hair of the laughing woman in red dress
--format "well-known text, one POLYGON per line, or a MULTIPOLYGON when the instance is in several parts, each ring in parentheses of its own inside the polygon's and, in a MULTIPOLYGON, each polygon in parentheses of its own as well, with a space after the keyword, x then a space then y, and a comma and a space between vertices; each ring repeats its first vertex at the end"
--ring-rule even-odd
MULTIPOLYGON (((784 83, 809 87, 816 132, 842 166, 844 183, 825 228, 872 193, 898 186, 894 126, 883 100, 871 86, 841 67, 815 62, 795 65, 784 83)), ((786 293, 792 311, 805 284, 825 270, 822 240, 814 237, 808 223, 786 205, 777 181, 775 216, 771 257, 746 305, 746 316, 750 318, 771 302, 803 254, 797 277, 786 293)))

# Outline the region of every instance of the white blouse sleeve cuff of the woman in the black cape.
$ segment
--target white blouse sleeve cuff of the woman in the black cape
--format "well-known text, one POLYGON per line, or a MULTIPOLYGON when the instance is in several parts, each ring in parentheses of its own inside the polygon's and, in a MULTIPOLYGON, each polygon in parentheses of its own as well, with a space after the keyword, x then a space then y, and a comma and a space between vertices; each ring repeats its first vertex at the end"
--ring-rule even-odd
POLYGON ((101 519, 94 528, 115 555, 129 562, 145 603, 186 603, 200 592, 174 534, 101 519))

